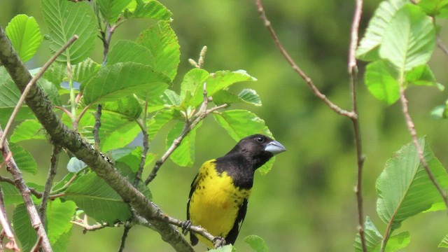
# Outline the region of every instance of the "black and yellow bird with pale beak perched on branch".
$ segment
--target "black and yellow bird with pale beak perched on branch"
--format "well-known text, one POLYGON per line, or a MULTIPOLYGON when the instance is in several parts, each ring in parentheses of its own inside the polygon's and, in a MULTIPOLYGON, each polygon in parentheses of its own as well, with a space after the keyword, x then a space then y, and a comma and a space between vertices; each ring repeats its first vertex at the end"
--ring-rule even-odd
MULTIPOLYGON (((187 203, 187 220, 199 225, 225 244, 235 244, 246 216, 253 175, 274 155, 286 151, 278 141, 262 134, 241 139, 221 158, 204 162, 191 183, 187 203)), ((190 242, 198 241, 209 248, 213 242, 190 232, 190 242)))

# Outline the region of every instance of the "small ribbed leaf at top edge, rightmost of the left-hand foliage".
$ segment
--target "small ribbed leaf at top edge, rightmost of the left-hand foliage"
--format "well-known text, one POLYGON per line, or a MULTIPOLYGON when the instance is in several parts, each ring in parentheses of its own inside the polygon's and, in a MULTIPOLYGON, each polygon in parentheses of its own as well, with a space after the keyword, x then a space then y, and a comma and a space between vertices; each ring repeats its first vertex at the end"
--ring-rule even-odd
POLYGON ((162 3, 155 0, 136 0, 132 1, 125 10, 125 18, 152 18, 157 20, 171 19, 173 13, 169 11, 162 3))

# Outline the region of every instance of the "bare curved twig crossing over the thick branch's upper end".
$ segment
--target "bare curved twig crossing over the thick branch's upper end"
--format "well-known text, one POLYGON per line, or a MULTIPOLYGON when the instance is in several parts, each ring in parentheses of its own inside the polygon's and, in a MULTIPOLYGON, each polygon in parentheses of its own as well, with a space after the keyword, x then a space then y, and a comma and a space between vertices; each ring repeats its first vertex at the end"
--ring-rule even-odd
POLYGON ((76 36, 76 35, 74 35, 72 38, 70 38, 69 41, 67 41, 67 43, 62 45, 62 48, 59 49, 55 53, 55 55, 52 55, 52 57, 50 57, 50 59, 48 59, 48 62, 45 62, 45 64, 43 64, 43 66, 38 71, 38 73, 36 73, 36 75, 33 78, 31 78, 31 80, 29 80, 27 87, 25 87, 25 90, 23 90, 22 96, 20 96, 19 102, 17 103, 17 105, 15 105, 14 111, 11 114, 11 116, 8 120, 8 123, 6 124, 5 131, 3 132, 3 136, 1 136, 1 138, 0 138, 0 150, 3 148, 3 143, 5 142, 6 135, 8 134, 10 126, 13 124, 15 116, 17 116, 17 114, 19 113, 19 109, 22 106, 23 102, 25 102, 25 97, 27 97, 27 94, 28 94, 29 90, 31 90, 31 87, 33 87, 33 85, 36 84, 37 80, 39 78, 41 78, 43 73, 45 73, 45 71, 47 71, 48 67, 50 67, 52 62, 55 62, 57 57, 59 57, 59 55, 61 55, 62 52, 64 52, 64 50, 66 50, 66 48, 68 48, 73 42, 75 42, 76 39, 78 39, 78 36, 76 36))

